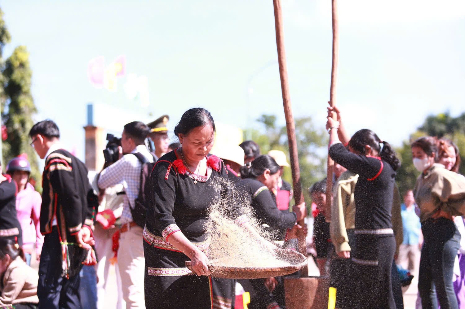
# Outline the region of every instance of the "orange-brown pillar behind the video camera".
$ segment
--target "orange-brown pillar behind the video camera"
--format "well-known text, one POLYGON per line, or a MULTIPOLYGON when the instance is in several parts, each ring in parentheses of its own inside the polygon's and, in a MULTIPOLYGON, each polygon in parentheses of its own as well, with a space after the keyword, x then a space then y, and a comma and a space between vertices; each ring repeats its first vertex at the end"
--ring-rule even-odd
POLYGON ((101 127, 87 125, 86 131, 86 166, 89 171, 100 171, 105 159, 103 150, 106 146, 105 130, 101 127))

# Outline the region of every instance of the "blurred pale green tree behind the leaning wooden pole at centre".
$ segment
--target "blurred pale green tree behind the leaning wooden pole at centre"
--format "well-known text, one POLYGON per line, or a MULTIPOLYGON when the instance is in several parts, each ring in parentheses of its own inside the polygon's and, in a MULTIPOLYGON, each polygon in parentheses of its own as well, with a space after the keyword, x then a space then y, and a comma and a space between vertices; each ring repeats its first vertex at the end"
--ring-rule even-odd
MULTIPOLYGON (((277 125, 274 115, 262 115, 257 122, 263 125, 265 133, 252 130, 252 140, 259 144, 261 153, 266 154, 272 149, 281 150, 286 153, 287 161, 290 162, 286 126, 277 125)), ((327 151, 324 147, 328 144, 328 134, 322 128, 315 128, 311 117, 295 118, 294 122, 302 190, 306 200, 310 201, 307 189, 326 177, 327 151)), ((244 130, 244 139, 246 131, 244 130)), ((290 168, 284 169, 283 178, 292 184, 290 168)))

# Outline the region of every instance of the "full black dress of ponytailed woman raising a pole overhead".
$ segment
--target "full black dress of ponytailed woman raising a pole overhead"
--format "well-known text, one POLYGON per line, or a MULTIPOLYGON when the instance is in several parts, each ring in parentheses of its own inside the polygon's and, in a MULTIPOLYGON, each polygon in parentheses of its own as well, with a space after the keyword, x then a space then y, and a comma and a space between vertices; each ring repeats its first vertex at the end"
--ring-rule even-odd
POLYGON ((357 155, 342 143, 332 145, 329 155, 334 162, 359 174, 354 189, 352 305, 357 309, 395 309, 391 269, 396 243, 391 210, 396 172, 381 158, 357 155))

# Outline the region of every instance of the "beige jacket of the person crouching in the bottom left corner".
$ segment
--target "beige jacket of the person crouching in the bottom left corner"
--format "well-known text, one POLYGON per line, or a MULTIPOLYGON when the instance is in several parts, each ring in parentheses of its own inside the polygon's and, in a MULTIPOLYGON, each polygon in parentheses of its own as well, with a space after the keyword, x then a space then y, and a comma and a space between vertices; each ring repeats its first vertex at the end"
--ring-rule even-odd
POLYGON ((1 285, 0 307, 20 302, 39 303, 39 274, 27 266, 20 256, 8 265, 1 285))

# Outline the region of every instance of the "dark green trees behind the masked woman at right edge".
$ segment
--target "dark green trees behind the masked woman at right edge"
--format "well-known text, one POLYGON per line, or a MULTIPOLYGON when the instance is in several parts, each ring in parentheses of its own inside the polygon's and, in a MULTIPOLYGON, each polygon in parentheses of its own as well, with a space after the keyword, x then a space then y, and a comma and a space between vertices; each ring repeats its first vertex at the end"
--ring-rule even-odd
POLYGON ((430 115, 419 126, 418 130, 410 136, 408 141, 404 141, 402 147, 396 150, 402 162, 396 176, 396 181, 402 194, 408 189, 413 189, 416 178, 419 175, 419 171, 415 169, 412 163, 410 144, 422 136, 429 135, 438 138, 450 138, 458 146, 459 155, 462 160, 460 173, 465 173, 465 164, 463 164, 465 162, 465 113, 456 118, 451 117, 449 112, 430 115))

